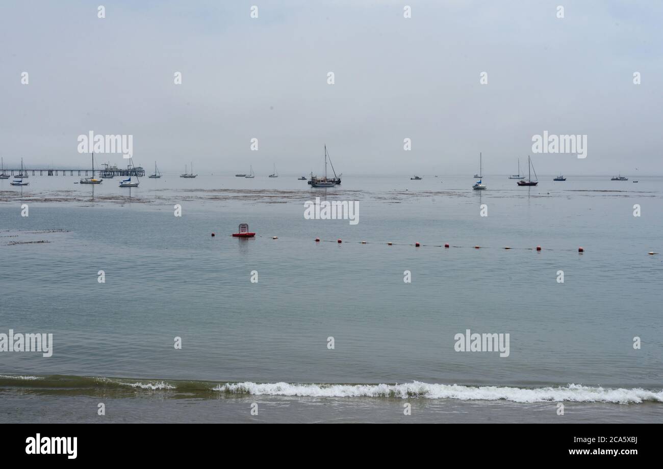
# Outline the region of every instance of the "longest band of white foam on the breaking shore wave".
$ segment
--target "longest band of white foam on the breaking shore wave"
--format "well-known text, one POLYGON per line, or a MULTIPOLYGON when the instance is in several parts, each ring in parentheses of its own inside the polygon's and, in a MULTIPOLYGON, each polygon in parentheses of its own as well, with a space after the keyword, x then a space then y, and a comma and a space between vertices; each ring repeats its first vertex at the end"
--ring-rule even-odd
POLYGON ((570 401, 641 403, 663 402, 663 391, 641 388, 610 389, 569 384, 556 388, 507 388, 499 386, 458 386, 456 384, 288 384, 288 383, 227 383, 215 391, 256 395, 284 395, 309 397, 424 397, 426 399, 460 399, 478 401, 506 400, 518 403, 570 401))

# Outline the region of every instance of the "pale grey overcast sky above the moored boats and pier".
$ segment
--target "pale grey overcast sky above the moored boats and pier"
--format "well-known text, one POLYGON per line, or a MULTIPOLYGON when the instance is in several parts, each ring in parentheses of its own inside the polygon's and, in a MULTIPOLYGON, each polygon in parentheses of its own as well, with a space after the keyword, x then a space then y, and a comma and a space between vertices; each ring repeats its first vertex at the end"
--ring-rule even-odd
POLYGON ((327 144, 345 175, 471 176, 479 152, 515 173, 547 130, 587 158, 532 154, 538 174, 663 174, 662 26, 644 0, 3 0, 0 155, 86 167, 93 130, 162 171, 308 174, 327 144))

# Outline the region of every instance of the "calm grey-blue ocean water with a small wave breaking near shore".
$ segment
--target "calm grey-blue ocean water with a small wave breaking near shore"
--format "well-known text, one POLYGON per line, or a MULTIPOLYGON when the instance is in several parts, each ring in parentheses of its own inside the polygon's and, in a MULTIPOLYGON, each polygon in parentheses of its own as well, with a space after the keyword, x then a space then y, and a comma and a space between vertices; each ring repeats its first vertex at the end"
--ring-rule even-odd
POLYGON ((553 177, 0 181, 0 334, 53 335, 50 357, 0 352, 0 415, 660 421, 663 178, 553 177), (359 223, 304 219, 316 196, 359 223), (255 238, 230 236, 243 222, 255 238), (467 329, 508 333, 509 356, 457 352, 467 329))

